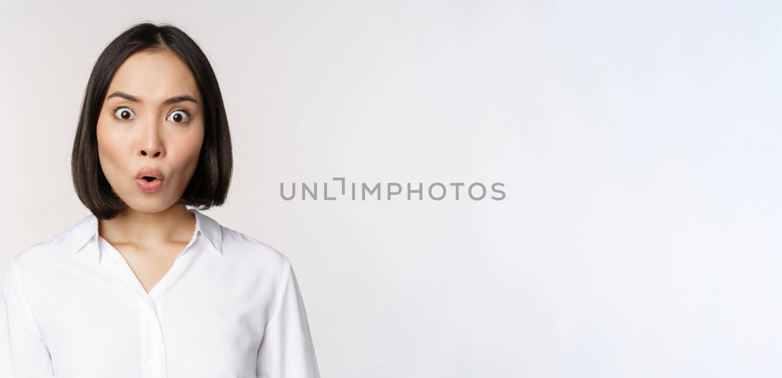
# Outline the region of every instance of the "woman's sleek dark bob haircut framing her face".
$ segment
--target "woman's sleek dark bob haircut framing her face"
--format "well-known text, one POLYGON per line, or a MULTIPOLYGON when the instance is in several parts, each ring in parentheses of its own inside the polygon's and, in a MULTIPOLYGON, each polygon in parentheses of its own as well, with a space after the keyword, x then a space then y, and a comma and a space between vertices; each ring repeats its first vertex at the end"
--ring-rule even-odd
POLYGON ((127 209, 103 174, 96 128, 114 74, 128 56, 142 51, 170 51, 178 55, 190 69, 203 98, 204 137, 199 162, 177 203, 199 210, 223 205, 231 185, 233 159, 228 117, 217 77, 206 55, 188 34, 178 27, 149 22, 137 23, 114 38, 92 69, 70 158, 76 194, 98 219, 112 219, 127 209))

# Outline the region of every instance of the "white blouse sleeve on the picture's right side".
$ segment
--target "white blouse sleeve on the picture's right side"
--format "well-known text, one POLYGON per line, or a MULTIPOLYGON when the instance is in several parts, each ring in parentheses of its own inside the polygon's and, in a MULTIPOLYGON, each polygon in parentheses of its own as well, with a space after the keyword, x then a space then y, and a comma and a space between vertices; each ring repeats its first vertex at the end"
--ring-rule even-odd
POLYGON ((296 274, 285 256, 277 306, 258 348, 259 378, 320 378, 296 274))

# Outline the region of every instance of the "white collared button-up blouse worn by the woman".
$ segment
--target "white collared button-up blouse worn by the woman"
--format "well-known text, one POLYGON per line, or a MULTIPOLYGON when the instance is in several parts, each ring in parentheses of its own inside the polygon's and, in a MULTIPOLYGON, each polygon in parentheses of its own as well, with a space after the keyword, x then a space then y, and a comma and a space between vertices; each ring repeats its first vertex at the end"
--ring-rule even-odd
POLYGON ((317 378, 287 256, 196 209, 147 293, 90 215, 16 255, 0 297, 0 376, 317 378))

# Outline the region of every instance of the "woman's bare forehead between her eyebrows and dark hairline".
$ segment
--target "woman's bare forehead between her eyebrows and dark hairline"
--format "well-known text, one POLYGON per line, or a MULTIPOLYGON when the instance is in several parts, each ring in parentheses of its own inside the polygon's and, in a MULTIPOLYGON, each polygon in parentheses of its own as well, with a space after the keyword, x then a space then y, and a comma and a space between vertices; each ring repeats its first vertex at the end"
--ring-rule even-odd
POLYGON ((123 91, 144 102, 162 102, 175 95, 201 101, 198 84, 188 66, 173 52, 135 52, 128 56, 109 84, 107 93, 123 91))

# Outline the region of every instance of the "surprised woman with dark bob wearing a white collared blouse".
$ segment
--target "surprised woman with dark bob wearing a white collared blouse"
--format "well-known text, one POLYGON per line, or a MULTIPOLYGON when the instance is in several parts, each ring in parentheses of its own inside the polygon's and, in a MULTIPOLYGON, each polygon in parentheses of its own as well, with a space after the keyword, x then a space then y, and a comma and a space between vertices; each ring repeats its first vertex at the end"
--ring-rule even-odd
POLYGON ((114 39, 71 161, 91 215, 11 262, 0 376, 319 376, 289 259, 199 212, 224 203, 231 165, 195 41, 152 23, 114 39))

